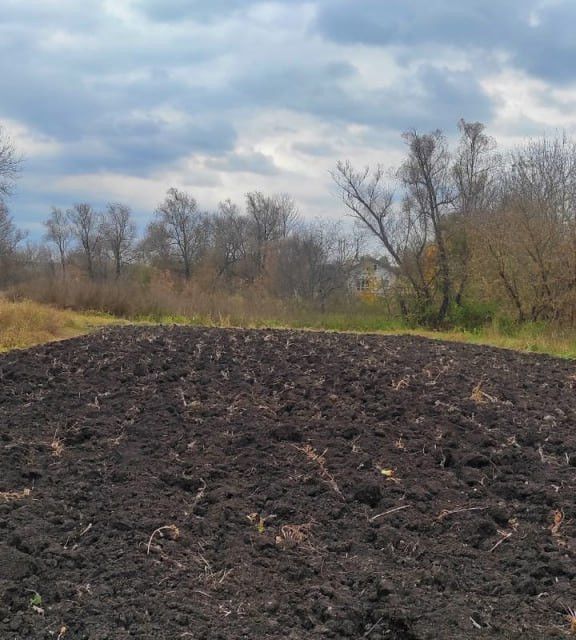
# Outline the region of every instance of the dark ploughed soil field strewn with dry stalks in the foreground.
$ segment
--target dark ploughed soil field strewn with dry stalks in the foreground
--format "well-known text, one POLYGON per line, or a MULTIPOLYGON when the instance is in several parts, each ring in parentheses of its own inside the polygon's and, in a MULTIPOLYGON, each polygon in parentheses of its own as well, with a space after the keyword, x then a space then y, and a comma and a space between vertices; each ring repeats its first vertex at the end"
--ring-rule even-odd
POLYGON ((0 638, 567 637, 575 373, 292 331, 5 355, 0 638))

